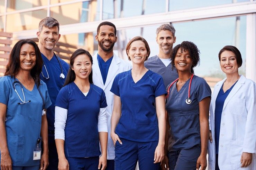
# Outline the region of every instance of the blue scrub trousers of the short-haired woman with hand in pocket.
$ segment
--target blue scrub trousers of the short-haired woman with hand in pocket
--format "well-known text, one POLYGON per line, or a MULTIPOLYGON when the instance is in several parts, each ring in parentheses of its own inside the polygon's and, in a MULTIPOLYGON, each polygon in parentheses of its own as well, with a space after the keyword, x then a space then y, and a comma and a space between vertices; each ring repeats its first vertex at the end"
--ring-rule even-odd
POLYGON ((160 162, 154 163, 158 141, 135 142, 120 138, 116 142, 115 170, 134 170, 139 161, 139 170, 159 170, 160 162))

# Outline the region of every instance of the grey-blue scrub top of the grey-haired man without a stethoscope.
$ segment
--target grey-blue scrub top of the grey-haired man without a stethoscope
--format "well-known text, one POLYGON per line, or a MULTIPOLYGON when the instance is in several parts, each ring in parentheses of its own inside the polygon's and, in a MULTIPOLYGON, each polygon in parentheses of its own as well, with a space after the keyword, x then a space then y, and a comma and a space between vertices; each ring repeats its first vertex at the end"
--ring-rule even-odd
POLYGON ((172 70, 171 63, 166 67, 158 56, 149 57, 148 60, 145 61, 144 66, 147 69, 160 74, 163 77, 165 87, 179 77, 176 68, 172 70))

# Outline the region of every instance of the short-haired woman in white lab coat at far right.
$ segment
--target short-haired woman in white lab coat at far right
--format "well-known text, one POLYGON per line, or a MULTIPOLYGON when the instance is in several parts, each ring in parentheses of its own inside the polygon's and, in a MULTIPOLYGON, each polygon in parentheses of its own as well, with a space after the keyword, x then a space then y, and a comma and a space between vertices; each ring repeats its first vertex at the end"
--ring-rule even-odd
POLYGON ((242 58, 236 47, 223 47, 219 60, 227 78, 212 94, 208 169, 255 170, 256 84, 238 74, 242 58))

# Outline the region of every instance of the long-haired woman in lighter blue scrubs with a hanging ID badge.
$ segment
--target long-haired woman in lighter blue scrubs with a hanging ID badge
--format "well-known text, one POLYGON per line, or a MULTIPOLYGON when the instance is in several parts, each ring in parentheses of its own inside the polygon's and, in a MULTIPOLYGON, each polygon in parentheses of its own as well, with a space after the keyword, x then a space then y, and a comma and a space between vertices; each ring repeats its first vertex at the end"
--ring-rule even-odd
POLYGON ((20 40, 14 45, 4 77, 0 78, 2 170, 45 170, 48 166, 45 111, 51 100, 46 84, 39 79, 42 66, 34 41, 20 40))

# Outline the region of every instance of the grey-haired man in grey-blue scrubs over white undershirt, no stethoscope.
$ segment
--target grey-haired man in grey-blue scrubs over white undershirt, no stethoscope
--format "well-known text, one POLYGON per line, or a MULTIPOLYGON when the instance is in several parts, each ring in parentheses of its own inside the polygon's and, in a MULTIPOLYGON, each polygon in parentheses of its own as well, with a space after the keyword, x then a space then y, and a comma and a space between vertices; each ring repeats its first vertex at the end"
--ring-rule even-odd
POLYGON ((176 80, 179 76, 172 64, 170 55, 175 43, 175 29, 172 24, 163 24, 156 29, 156 42, 159 46, 159 53, 148 58, 144 65, 147 69, 160 74, 164 79, 165 87, 176 80))

